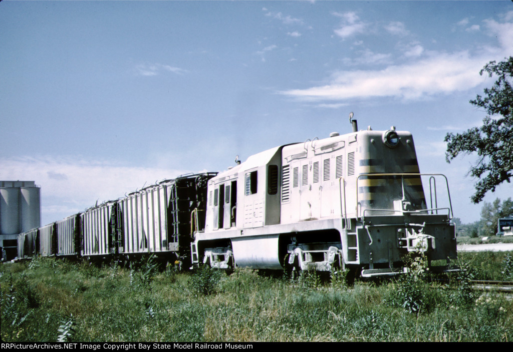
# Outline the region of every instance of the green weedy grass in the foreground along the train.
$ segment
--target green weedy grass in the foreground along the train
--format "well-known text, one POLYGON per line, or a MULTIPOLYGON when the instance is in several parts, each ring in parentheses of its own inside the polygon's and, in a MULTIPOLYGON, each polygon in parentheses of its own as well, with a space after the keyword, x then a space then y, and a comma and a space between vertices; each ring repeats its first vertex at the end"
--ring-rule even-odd
POLYGON ((467 285, 501 279, 508 255, 462 253, 467 271, 450 283, 412 274, 352 287, 339 274, 291 279, 158 271, 151 259, 123 268, 37 258, 0 265, 0 333, 41 342, 510 341, 513 302, 467 285))

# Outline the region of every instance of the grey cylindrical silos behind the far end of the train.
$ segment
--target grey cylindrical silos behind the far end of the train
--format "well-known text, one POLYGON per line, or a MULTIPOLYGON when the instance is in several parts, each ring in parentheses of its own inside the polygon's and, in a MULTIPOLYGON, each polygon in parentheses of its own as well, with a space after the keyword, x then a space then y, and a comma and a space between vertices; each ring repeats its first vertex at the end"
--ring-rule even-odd
POLYGON ((17 237, 41 227, 41 188, 34 181, 0 181, 0 251, 16 257, 17 237))

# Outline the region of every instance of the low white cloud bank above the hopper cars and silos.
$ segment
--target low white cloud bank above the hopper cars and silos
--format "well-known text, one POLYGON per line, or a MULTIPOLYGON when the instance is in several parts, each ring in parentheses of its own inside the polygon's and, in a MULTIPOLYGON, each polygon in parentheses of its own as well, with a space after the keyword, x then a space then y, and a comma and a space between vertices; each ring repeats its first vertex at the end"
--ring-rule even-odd
POLYGON ((33 180, 41 185, 43 224, 174 178, 190 170, 142 168, 81 157, 0 158, 0 179, 33 180), (51 195, 51 196, 47 196, 51 195))

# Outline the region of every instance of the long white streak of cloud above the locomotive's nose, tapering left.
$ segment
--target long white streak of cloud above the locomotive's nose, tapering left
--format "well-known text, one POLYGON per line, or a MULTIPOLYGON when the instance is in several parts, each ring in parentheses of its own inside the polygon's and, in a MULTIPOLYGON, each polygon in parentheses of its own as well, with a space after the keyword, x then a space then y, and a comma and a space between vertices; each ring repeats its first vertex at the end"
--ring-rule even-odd
POLYGON ((467 52, 440 54, 384 70, 338 71, 324 86, 279 93, 307 101, 372 97, 419 99, 476 87, 482 81, 477 74, 481 67, 481 61, 469 58, 467 52))

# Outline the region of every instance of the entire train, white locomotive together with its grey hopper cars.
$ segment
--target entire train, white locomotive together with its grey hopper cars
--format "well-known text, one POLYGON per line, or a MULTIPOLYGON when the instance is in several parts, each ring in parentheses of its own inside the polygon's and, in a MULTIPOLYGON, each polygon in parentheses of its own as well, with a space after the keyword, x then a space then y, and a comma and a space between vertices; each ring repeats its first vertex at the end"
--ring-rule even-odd
POLYGON ((409 132, 352 124, 348 134, 166 180, 21 234, 18 257, 153 253, 183 267, 347 268, 371 277, 403 273, 405 255, 422 252, 429 270, 446 271, 457 257, 447 179, 420 173, 409 132))

